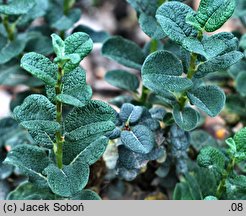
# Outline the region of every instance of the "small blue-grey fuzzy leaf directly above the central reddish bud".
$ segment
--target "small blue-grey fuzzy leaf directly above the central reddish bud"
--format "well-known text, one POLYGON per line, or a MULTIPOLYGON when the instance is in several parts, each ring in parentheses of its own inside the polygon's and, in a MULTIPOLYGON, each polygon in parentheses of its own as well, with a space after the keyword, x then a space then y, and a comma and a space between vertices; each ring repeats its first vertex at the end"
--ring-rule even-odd
POLYGON ((134 106, 129 103, 123 104, 121 107, 119 117, 122 122, 128 122, 131 124, 137 123, 143 114, 143 108, 140 106, 134 106))

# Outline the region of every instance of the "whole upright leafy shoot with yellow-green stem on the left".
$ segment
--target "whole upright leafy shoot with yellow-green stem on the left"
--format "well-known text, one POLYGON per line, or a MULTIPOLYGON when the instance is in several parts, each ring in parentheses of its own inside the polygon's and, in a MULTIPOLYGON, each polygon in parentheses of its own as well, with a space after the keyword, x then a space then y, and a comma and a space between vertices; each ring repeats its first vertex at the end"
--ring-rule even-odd
POLYGON ((91 100, 91 91, 80 93, 88 88, 79 63, 92 50, 89 36, 78 32, 63 41, 53 34, 52 42, 57 56, 53 62, 34 52, 21 59, 21 67, 42 79, 47 91, 54 91, 50 98, 56 105, 43 95, 32 94, 14 109, 14 118, 30 132, 34 143, 16 146, 4 160, 29 177, 9 198, 78 197, 88 182, 89 166, 106 148, 105 133, 114 129, 114 110, 91 100), (73 107, 66 116, 65 104, 73 107), (23 193, 24 188, 32 195, 23 193))

